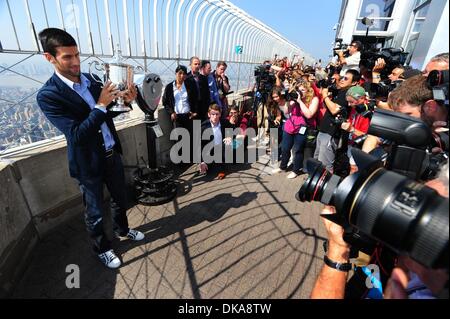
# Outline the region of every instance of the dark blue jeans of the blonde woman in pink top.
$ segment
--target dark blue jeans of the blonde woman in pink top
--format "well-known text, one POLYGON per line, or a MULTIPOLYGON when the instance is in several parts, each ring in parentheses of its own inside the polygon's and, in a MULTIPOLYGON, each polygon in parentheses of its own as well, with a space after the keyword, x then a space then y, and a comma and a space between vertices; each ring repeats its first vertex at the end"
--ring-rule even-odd
POLYGON ((306 135, 288 134, 283 131, 283 140, 281 142, 281 164, 282 170, 287 169, 287 164, 291 158, 291 149, 294 151, 293 172, 301 173, 303 167, 303 149, 306 143, 306 135))

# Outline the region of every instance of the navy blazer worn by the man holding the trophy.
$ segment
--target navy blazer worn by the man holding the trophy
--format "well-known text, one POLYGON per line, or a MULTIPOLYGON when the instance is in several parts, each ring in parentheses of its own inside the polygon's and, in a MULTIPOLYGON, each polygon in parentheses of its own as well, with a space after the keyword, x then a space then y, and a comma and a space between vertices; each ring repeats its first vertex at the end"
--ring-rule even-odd
MULTIPOLYGON (((98 101, 102 90, 89 74, 89 91, 98 101)), ((101 125, 106 122, 115 145, 114 150, 122 153, 119 137, 113 123, 117 113, 91 110, 89 105, 75 91, 56 75, 44 84, 37 94, 37 103, 48 120, 66 137, 70 176, 98 177, 105 166, 105 147, 101 125)))

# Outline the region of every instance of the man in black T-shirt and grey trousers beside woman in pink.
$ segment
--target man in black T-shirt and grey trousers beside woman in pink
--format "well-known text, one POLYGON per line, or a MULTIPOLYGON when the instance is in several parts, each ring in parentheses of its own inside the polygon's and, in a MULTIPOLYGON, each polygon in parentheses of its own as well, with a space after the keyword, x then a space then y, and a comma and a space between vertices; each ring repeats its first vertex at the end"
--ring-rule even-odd
POLYGON ((330 98, 329 88, 322 88, 322 97, 327 108, 319 127, 317 145, 314 158, 322 162, 327 170, 333 171, 336 150, 341 138, 341 124, 348 117, 347 90, 358 84, 360 75, 358 71, 349 70, 337 83, 338 91, 330 98))

